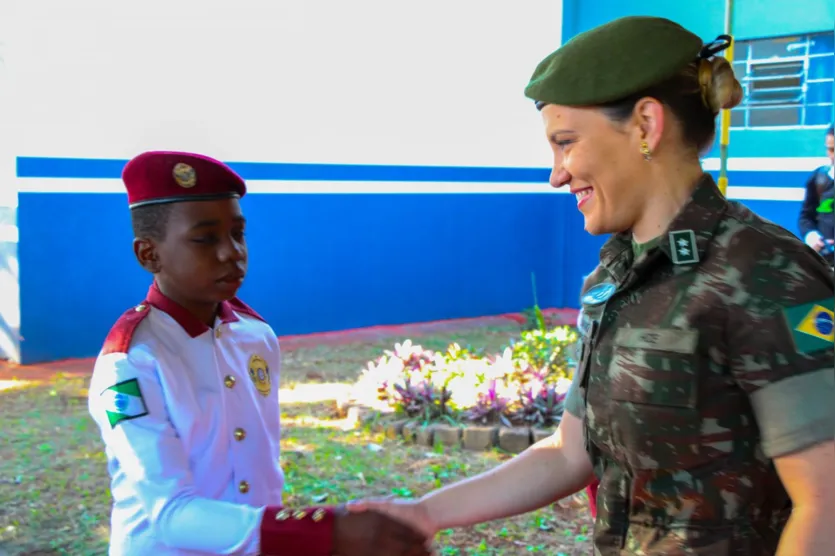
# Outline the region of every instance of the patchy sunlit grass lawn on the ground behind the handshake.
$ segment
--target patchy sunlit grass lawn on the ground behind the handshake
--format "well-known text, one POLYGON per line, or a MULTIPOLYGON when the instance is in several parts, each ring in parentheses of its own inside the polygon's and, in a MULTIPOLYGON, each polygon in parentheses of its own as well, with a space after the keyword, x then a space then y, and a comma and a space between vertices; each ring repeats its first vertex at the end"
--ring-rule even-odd
MULTIPOLYGON (((451 341, 497 350, 518 328, 413 338, 441 349, 451 341)), ((286 350, 281 377, 285 503, 337 503, 395 493, 419 496, 487 470, 508 455, 428 449, 347 430, 322 383, 354 380, 366 361, 395 341, 286 350), (312 384, 321 386, 312 387, 312 384), (305 388, 305 385, 309 385, 305 388), (287 395, 284 395, 286 392, 287 395)), ((0 556, 106 554, 110 494, 98 430, 87 414, 87 380, 58 378, 0 392, 0 556)), ((337 386, 338 388, 338 386, 337 386)), ((581 499, 515 519, 444 531, 440 554, 586 554, 590 518, 581 499)))

